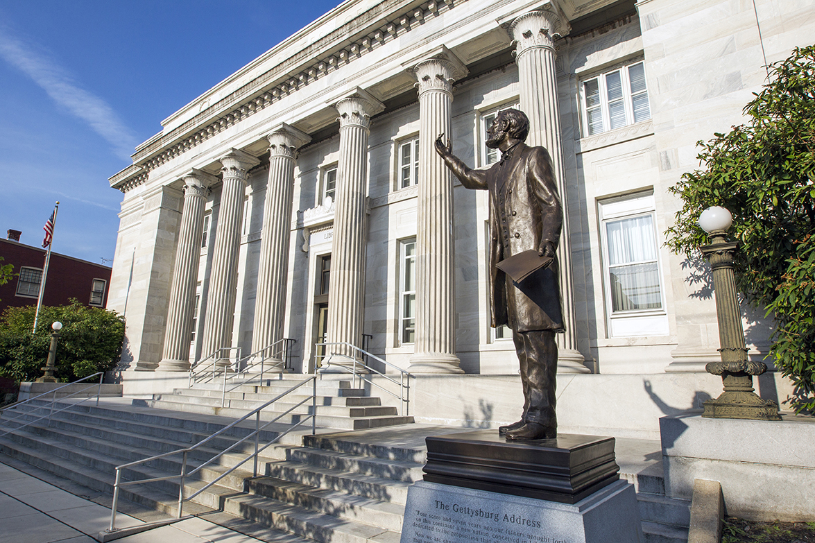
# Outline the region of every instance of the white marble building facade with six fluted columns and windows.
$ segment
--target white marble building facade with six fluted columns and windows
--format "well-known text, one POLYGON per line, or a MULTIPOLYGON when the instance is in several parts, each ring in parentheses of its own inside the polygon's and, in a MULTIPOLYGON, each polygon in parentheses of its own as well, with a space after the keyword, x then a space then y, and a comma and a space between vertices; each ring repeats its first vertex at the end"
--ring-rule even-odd
MULTIPOLYGON (((680 206, 666 188, 698 166, 699 139, 738 124, 764 64, 813 35, 796 0, 347 0, 165 119, 110 179, 126 383, 157 390, 219 347, 283 338, 309 373, 325 339, 437 383, 431 396, 517 402, 510 334, 489 324, 487 194, 454 183, 432 143, 450 135, 488 166, 485 125, 519 107, 566 211, 560 387, 610 379, 673 408, 718 395, 700 384, 715 305, 663 247, 680 206)), ((770 324, 745 324, 763 356, 770 324)), ((418 418, 504 420, 468 401, 418 418)))

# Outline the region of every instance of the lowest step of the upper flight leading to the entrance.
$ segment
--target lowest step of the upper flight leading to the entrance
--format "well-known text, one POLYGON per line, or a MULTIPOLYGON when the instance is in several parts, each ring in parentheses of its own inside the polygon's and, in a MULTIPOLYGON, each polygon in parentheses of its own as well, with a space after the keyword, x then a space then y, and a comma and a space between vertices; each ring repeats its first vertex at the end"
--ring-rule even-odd
MULTIPOLYGON (((143 405, 152 408, 171 409, 177 411, 184 411, 189 413, 201 413, 218 415, 222 417, 241 417, 246 414, 246 409, 238 408, 222 408, 215 405, 201 405, 201 404, 186 404, 183 400, 172 398, 170 400, 133 400, 134 405, 143 405)), ((276 417, 276 414, 262 414, 262 420, 271 420, 276 417)), ((292 413, 280 419, 284 424, 295 424, 302 421, 305 415, 298 415, 292 413)), ((365 430, 367 428, 377 428, 380 426, 396 426, 399 424, 407 424, 413 422, 413 417, 402 417, 399 415, 384 415, 372 417, 357 417, 351 418, 348 416, 338 415, 320 415, 319 409, 317 414, 317 426, 323 428, 336 428, 341 430, 365 430)), ((306 423, 311 425, 311 422, 306 423)))

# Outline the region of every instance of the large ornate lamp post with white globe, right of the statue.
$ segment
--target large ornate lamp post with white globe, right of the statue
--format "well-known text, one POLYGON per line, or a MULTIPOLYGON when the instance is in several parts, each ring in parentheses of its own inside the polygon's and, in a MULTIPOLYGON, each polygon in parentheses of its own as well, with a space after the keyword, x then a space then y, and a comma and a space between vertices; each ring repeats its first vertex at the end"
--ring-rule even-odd
POLYGON ((699 216, 699 226, 711 240, 710 245, 703 245, 699 249, 711 263, 721 347, 721 360, 707 364, 705 369, 707 373, 720 375, 725 387, 725 391, 716 400, 704 403, 702 416, 780 421, 778 404, 773 400, 762 400, 753 389, 753 376, 767 371, 767 365, 747 358, 733 274, 733 257, 738 249, 738 242, 726 240, 727 230, 732 223, 733 216, 723 207, 709 207, 699 216))

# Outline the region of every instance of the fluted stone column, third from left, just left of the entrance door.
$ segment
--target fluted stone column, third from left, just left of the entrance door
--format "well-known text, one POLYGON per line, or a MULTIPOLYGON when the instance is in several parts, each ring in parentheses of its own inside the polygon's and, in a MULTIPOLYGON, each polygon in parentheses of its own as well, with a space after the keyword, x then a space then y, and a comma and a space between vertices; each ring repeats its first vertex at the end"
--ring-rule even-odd
MULTIPOLYGON (((255 301, 252 351, 283 339, 286 286, 289 273, 294 159, 297 148, 311 138, 285 123, 269 135, 269 183, 263 204, 258 295, 255 301)), ((274 351, 278 351, 275 347, 274 351)), ((273 352, 266 355, 273 355, 273 352)))

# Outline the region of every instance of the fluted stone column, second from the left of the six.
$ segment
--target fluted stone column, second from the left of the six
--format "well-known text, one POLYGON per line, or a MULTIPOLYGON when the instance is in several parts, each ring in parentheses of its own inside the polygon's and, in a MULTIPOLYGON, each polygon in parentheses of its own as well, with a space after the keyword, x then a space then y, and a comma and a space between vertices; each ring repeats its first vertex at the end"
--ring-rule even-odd
POLYGON ((215 228, 215 241, 212 247, 213 258, 209 273, 202 357, 213 354, 221 347, 231 346, 238 279, 240 225, 243 223, 245 189, 249 179, 247 171, 259 163, 257 158, 238 149, 232 149, 221 158, 223 184, 218 225, 215 228))

